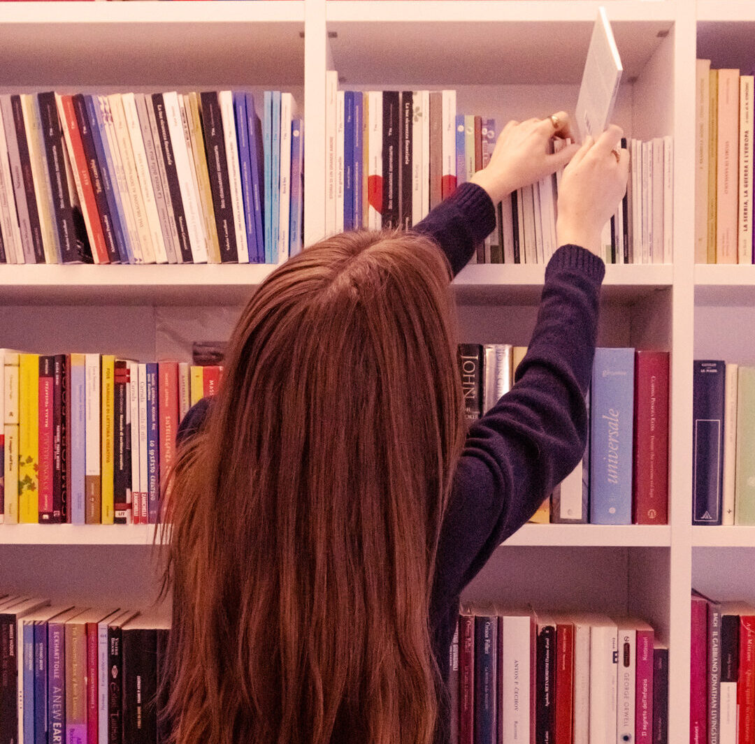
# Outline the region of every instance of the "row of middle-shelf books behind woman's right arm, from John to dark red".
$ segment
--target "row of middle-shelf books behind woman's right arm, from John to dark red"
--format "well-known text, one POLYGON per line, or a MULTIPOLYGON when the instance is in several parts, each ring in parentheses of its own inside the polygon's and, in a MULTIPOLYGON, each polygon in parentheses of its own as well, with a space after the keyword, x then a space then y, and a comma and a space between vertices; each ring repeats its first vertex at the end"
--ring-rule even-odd
MULTIPOLYGON (((460 344, 467 419, 498 403, 527 349, 460 344)), ((596 349, 584 460, 532 521, 668 524, 668 352, 596 349)))

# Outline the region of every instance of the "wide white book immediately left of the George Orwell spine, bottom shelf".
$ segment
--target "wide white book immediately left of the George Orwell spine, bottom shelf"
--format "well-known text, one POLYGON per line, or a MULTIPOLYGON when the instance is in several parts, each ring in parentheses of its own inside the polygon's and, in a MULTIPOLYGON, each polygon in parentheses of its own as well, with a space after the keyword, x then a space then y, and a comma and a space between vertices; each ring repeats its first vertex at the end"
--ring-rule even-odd
POLYGON ((590 742, 616 741, 616 626, 590 629, 590 742))

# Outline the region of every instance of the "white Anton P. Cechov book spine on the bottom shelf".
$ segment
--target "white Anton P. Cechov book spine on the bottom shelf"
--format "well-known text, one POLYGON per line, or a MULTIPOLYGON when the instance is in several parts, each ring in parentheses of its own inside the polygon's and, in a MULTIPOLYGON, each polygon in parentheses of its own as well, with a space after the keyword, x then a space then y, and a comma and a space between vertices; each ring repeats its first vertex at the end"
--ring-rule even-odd
POLYGON ((530 744, 531 622, 526 615, 501 618, 502 744, 530 744))

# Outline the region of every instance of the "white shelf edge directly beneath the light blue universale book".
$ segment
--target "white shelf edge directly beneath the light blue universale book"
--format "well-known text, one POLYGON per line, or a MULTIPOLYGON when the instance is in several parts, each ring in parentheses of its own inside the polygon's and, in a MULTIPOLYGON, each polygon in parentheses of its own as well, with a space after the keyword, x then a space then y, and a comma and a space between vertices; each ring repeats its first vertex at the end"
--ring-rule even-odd
POLYGON ((525 524, 504 546, 669 547, 668 525, 525 524))

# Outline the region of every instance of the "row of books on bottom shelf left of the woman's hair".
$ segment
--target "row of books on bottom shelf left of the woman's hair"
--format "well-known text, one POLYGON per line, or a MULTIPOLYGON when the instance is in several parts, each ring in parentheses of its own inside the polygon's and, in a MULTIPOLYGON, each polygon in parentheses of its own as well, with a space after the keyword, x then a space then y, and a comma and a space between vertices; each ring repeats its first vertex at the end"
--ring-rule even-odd
POLYGON ((168 628, 134 610, 0 592, 0 742, 166 742, 168 628))

